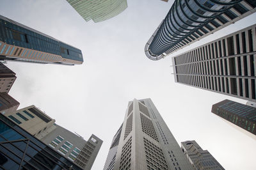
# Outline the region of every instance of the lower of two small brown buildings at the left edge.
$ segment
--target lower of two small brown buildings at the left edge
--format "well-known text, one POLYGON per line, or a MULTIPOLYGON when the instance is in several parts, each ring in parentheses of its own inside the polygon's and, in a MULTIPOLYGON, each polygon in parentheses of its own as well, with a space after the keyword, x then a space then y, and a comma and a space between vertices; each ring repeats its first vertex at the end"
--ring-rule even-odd
POLYGON ((18 109, 20 103, 7 93, 0 93, 0 112, 8 114, 18 109))

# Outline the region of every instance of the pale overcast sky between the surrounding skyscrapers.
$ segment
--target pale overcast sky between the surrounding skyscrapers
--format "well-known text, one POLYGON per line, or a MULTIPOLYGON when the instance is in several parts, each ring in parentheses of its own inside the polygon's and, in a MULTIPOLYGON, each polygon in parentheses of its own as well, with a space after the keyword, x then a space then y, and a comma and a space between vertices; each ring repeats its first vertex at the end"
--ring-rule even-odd
MULTIPOLYGON (((173 1, 129 0, 104 22, 85 22, 61 0, 1 0, 0 14, 83 51, 76 66, 8 62, 17 75, 10 95, 20 107, 36 105, 72 132, 104 142, 92 169, 103 169, 129 100, 151 98, 178 143, 195 140, 225 169, 256 169, 256 137, 211 113, 230 99, 174 82, 171 56, 151 61, 144 47, 173 1)), ((190 45, 186 50, 256 23, 255 13, 190 45)), ((183 50, 185 51, 185 50, 183 50)), ((179 53, 182 50, 179 51, 179 53)), ((177 53, 178 54, 178 53, 177 53)))

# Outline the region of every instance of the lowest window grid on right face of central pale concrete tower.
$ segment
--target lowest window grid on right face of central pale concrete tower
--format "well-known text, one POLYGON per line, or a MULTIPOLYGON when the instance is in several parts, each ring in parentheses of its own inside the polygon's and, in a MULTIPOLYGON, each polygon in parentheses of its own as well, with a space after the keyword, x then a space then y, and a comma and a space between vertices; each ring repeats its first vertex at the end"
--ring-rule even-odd
POLYGON ((147 169, 168 169, 163 150, 143 137, 147 169))

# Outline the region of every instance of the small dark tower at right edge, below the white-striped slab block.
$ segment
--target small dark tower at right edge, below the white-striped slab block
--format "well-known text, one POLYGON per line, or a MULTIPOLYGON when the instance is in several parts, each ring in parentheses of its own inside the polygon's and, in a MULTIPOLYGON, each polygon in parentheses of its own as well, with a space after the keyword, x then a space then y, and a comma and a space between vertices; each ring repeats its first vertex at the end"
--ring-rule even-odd
POLYGON ((256 135, 256 108, 239 104, 231 100, 223 100, 212 105, 212 112, 221 118, 256 135))

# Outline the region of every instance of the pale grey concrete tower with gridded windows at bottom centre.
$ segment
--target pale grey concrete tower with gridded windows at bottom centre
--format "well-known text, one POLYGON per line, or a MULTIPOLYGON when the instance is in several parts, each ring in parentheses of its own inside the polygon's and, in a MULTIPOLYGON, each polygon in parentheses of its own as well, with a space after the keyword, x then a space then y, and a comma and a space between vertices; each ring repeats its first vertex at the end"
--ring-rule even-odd
POLYGON ((129 102, 104 169, 193 169, 150 98, 129 102))

